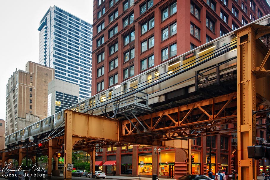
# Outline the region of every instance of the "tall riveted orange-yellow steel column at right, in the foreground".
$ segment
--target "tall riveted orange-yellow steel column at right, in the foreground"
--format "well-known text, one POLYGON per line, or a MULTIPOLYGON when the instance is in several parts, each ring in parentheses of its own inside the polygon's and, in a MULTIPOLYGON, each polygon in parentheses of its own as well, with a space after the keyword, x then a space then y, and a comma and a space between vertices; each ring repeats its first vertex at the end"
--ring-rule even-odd
POLYGON ((255 144, 256 78, 255 70, 256 32, 253 26, 237 31, 237 148, 238 179, 257 179, 254 159, 249 159, 247 146, 255 144))

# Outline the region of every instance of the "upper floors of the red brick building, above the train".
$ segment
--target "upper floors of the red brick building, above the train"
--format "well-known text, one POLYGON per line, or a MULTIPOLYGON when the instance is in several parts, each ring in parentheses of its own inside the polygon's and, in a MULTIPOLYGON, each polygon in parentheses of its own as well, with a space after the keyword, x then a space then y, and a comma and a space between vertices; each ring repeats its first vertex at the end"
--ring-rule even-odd
POLYGON ((95 0, 92 95, 269 13, 266 0, 95 0))

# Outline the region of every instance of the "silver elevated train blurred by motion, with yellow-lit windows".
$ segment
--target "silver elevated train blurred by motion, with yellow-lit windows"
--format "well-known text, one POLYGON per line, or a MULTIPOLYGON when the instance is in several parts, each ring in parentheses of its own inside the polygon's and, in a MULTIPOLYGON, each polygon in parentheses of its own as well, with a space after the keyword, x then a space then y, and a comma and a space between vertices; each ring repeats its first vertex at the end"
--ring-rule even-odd
MULTIPOLYGON (((264 16, 253 23, 269 26, 270 15, 264 16)), ((189 92, 195 91, 194 72, 196 71, 219 64, 220 74, 230 75, 231 72, 236 71, 236 58, 236 36, 234 32, 230 32, 67 109, 107 116, 108 113, 117 113, 118 108, 128 104, 134 104, 134 101, 141 102, 147 106, 166 101, 166 97, 163 96, 165 93, 183 87, 189 87, 189 92), (141 97, 138 96, 137 94, 139 93, 147 96, 147 98, 144 98, 143 95, 141 97), (145 103, 146 99, 147 103, 145 103)), ((216 69, 213 68, 207 73, 211 74, 215 71, 216 69)), ((5 138, 6 147, 9 148, 20 144, 22 137, 25 139, 28 139, 30 136, 35 137, 36 135, 44 137, 52 132, 63 129, 65 125, 64 111, 62 110, 8 135, 5 138)))

